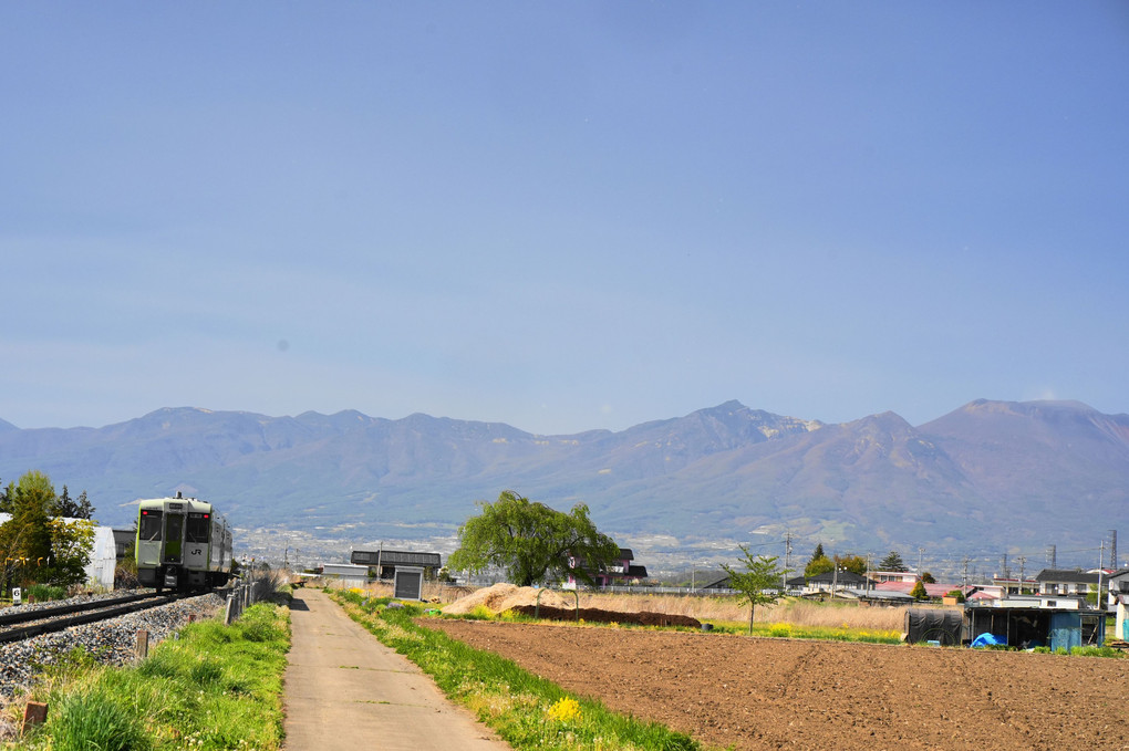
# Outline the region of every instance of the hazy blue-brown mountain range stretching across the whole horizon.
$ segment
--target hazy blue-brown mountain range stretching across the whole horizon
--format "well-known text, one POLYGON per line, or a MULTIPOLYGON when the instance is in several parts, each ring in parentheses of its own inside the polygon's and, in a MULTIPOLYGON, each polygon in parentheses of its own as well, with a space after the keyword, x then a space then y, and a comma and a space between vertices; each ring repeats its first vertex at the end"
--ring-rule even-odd
POLYGON ((102 521, 119 525, 132 520, 130 502, 180 489, 244 527, 430 536, 513 488, 562 509, 587 503, 612 533, 788 530, 856 549, 1006 549, 1091 544, 1117 527, 1129 501, 1129 416, 977 400, 913 427, 890 412, 824 424, 727 401, 574 435, 351 410, 165 408, 65 430, 0 421, 0 477, 28 469, 87 489, 102 521))

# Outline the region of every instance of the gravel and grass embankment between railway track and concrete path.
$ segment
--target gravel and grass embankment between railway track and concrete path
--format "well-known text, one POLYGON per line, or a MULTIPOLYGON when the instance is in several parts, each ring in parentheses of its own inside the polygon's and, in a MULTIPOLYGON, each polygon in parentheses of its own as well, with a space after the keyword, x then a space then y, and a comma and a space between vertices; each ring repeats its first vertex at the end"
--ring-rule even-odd
POLYGON ((270 600, 225 625, 222 599, 205 598, 14 645, 34 648, 62 639, 28 657, 42 661, 42 675, 0 712, 7 721, 0 723, 0 748, 281 749, 289 611, 270 600), (210 617, 189 622, 200 607, 210 617), (159 643, 139 661, 134 645, 141 629, 159 643), (119 637, 110 636, 114 631, 119 637), (46 722, 27 723, 32 713, 24 705, 45 705, 46 722))

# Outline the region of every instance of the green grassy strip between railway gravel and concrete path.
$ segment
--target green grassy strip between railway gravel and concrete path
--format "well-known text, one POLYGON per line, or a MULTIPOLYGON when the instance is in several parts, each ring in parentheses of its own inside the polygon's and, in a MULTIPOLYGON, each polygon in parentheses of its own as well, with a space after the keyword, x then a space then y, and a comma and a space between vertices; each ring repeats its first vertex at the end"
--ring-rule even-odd
POLYGON ((29 697, 49 704, 46 724, 8 748, 279 749, 288 617, 260 603, 231 626, 190 624, 137 668, 103 668, 77 650, 29 697))

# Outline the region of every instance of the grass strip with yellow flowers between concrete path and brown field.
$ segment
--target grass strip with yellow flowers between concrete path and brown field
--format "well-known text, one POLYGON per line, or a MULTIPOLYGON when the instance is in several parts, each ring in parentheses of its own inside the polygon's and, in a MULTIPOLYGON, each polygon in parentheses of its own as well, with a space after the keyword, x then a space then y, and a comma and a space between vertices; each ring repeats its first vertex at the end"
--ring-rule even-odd
POLYGON ((331 595, 380 642, 430 674, 448 698, 466 706, 518 751, 697 751, 683 733, 613 713, 599 701, 568 696, 516 663, 417 626, 414 606, 386 607, 350 591, 331 595))

